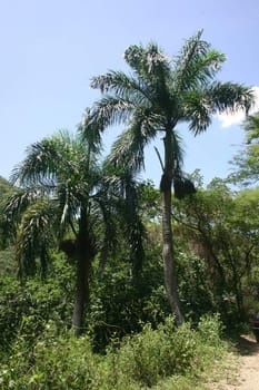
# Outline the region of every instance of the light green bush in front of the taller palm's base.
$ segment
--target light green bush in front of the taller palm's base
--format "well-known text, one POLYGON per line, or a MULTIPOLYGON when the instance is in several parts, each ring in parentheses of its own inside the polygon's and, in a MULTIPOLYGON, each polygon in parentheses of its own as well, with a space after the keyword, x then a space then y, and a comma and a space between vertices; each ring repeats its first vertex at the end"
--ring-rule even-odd
POLYGON ((147 324, 141 333, 126 339, 118 365, 123 374, 151 387, 162 377, 186 372, 193 360, 196 342, 188 324, 176 329, 171 319, 157 330, 147 324))

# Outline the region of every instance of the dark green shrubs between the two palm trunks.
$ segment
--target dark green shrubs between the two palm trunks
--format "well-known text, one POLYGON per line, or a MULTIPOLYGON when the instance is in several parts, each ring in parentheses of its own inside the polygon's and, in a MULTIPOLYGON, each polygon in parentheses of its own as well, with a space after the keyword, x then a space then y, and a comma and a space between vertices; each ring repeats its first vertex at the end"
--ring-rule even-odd
POLYGON ((130 263, 119 259, 92 279, 87 324, 96 350, 103 351, 114 337, 140 331, 142 323, 156 328, 169 314, 159 252, 146 248, 148 259, 138 277, 130 263))

